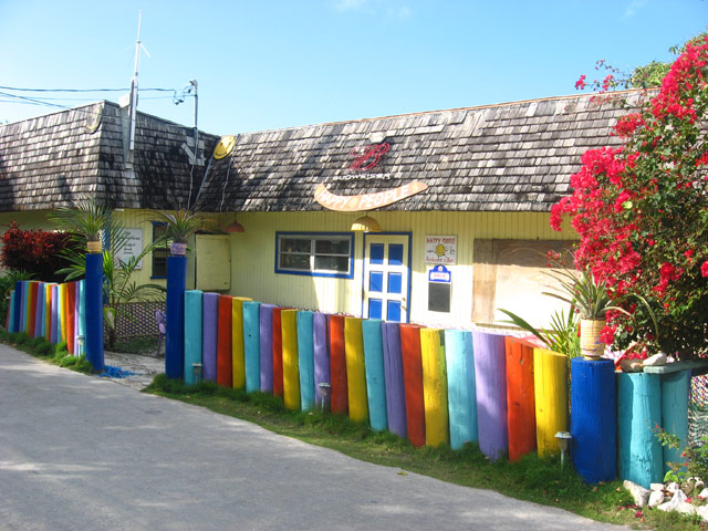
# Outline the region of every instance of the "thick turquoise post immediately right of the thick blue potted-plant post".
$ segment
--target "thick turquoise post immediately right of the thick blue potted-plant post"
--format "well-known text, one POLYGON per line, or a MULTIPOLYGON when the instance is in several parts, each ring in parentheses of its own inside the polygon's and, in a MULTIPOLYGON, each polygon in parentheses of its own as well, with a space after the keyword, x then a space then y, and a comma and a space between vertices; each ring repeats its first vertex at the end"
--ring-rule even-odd
POLYGON ((662 423, 657 374, 617 374, 617 457, 620 478, 648 489, 664 479, 662 446, 654 429, 662 423))

